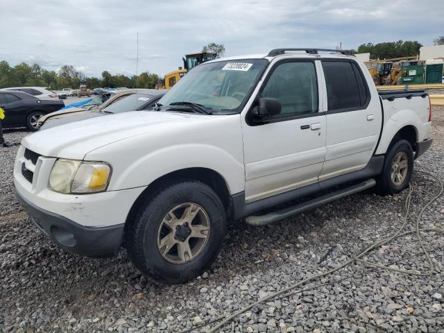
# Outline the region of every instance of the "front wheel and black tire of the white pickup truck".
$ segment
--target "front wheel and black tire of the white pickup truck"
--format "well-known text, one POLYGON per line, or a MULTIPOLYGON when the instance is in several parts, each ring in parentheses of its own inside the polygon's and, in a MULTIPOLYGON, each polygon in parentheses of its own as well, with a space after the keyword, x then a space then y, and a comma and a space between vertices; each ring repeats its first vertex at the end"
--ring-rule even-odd
POLYGON ((125 244, 131 261, 144 275, 162 283, 179 284, 196 278, 212 264, 219 254, 225 233, 225 209, 219 196, 202 182, 189 180, 167 185, 146 198, 135 219, 126 225, 125 244), (182 209, 183 212, 180 211, 182 209), (185 216, 187 210, 191 212, 193 209, 196 217, 190 218, 191 226, 186 227, 187 222, 182 222, 187 219, 180 218, 185 216), (178 220, 171 219, 170 212, 178 220), (172 224, 168 226, 165 221, 172 224), (206 232, 200 231, 206 228, 204 221, 208 225, 206 232), (174 223, 179 223, 181 228, 178 229, 174 223), (193 230, 189 237, 180 234, 189 234, 185 228, 193 230), (194 238, 196 228, 200 228, 199 232, 204 234, 194 238), (172 240, 171 237, 176 236, 178 238, 172 240), (185 237, 185 242, 182 237, 185 237), (205 241, 200 237, 206 237, 205 241), (169 244, 176 244, 168 251, 168 245, 162 247, 161 240, 164 239, 171 239, 169 244), (191 251, 182 251, 181 256, 179 249, 185 243, 189 244, 191 251))

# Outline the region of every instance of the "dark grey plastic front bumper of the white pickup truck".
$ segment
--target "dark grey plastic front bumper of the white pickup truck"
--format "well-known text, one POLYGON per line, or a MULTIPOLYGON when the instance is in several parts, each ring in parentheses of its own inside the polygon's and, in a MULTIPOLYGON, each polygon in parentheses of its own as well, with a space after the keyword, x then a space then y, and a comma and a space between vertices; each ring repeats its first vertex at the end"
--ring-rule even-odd
POLYGON ((121 246, 123 224, 87 227, 33 205, 17 189, 15 196, 37 228, 70 253, 87 257, 106 257, 121 246))

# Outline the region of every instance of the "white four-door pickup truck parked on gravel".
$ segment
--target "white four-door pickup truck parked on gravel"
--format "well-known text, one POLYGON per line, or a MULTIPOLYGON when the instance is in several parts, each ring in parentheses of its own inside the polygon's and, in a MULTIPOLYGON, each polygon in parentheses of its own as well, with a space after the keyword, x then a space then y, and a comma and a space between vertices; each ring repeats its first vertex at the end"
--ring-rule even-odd
POLYGON ((195 67, 153 110, 28 135, 15 190, 65 250, 124 245, 142 273, 180 283, 212 263, 228 219, 264 225, 374 185, 406 188, 430 126, 427 93, 378 94, 347 51, 274 49, 195 67))

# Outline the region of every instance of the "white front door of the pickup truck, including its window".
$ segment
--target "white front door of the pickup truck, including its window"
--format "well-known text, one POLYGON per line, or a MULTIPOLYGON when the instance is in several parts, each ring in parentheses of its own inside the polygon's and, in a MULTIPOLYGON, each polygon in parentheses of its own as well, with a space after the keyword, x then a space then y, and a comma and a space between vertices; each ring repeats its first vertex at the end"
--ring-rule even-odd
POLYGON ((247 203, 318 181, 325 157, 318 66, 311 60, 276 62, 259 89, 255 103, 275 98, 282 111, 261 124, 247 114, 242 123, 247 203))

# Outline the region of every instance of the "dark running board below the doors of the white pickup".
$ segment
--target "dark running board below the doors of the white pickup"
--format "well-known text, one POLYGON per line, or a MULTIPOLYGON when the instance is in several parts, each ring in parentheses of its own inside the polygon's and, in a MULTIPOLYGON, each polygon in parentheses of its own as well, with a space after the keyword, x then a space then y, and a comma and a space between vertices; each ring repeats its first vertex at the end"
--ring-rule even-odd
POLYGON ((284 208, 283 210, 277 210, 275 212, 271 212, 260 216, 247 216, 245 222, 250 225, 266 225, 268 223, 280 221, 282 219, 286 219, 289 216, 299 214, 307 210, 311 210, 314 207, 324 205, 325 203, 330 203, 330 201, 344 198, 345 196, 350 196, 350 194, 355 194, 357 192, 364 191, 364 189, 370 189, 370 187, 374 187, 375 185, 376 181, 374 179, 369 179, 366 180, 365 182, 360 182, 357 185, 353 185, 345 189, 339 189, 338 191, 334 191, 330 194, 325 194, 323 196, 314 198, 305 203, 300 203, 293 207, 287 207, 284 208))

